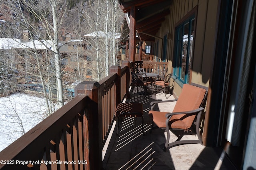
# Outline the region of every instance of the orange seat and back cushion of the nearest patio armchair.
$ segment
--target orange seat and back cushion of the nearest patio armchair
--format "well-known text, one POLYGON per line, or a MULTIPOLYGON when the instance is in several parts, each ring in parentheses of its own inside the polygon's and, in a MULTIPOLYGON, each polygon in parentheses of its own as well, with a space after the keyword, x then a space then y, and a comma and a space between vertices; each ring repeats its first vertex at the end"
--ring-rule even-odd
MULTIPOLYGON (((204 99, 204 95, 206 90, 203 88, 199 88, 196 86, 192 86, 190 84, 184 84, 182 88, 182 92, 174 106, 173 112, 186 112, 189 110, 194 110, 199 108, 202 100, 204 99)), ((167 112, 158 112, 150 110, 148 112, 152 114, 153 121, 160 128, 166 128, 166 117, 165 114, 167 112)), ((171 128, 180 128, 180 129, 188 129, 191 127, 195 115, 185 117, 186 114, 173 115, 170 119, 170 127, 171 128), (184 116, 184 117, 183 117, 184 116)))

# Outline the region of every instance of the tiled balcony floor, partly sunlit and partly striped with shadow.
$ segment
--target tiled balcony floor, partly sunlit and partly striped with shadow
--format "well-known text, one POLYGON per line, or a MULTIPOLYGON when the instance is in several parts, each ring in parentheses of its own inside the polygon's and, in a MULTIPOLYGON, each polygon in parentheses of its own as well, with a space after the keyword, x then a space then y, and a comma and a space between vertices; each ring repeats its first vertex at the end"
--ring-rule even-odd
MULTIPOLYGON (((172 99, 173 96, 168 97, 168 100, 172 99)), ((104 170, 234 170, 229 164, 224 165, 221 161, 228 162, 218 148, 186 144, 164 152, 162 148, 166 132, 159 128, 153 130, 151 134, 149 132, 151 126, 151 120, 147 116, 149 104, 156 100, 166 100, 166 98, 164 94, 156 94, 152 97, 133 94, 130 102, 143 103, 145 135, 143 136, 140 126, 141 118, 125 118, 118 136, 114 124, 111 130, 113 133, 103 149, 104 170)), ((174 104, 160 104, 158 107, 160 111, 172 110, 174 104)), ((197 139, 196 136, 183 138, 197 139)), ((176 140, 176 136, 172 134, 170 140, 176 140)))

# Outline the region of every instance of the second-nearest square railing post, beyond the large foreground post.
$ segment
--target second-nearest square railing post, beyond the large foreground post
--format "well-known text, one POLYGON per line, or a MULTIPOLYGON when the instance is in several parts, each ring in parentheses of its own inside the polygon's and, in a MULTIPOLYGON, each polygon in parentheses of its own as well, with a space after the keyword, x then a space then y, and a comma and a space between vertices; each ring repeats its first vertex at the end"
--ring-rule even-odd
POLYGON ((115 99, 115 108, 121 102, 121 67, 120 66, 111 66, 109 69, 109 73, 116 73, 118 77, 115 81, 116 86, 116 99, 115 99))

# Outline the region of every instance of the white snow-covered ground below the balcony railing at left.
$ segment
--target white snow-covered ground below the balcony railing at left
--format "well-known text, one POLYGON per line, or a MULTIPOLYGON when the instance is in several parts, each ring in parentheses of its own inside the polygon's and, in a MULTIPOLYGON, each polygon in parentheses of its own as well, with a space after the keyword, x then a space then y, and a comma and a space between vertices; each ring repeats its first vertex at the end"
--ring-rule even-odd
POLYGON ((0 151, 46 118, 46 112, 44 98, 28 94, 0 98, 0 151))

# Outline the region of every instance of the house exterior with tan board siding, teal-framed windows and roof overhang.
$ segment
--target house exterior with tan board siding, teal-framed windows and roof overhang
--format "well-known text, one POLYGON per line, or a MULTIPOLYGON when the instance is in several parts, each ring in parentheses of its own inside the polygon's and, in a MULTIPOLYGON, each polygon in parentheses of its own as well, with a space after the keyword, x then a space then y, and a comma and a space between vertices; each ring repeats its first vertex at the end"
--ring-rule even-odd
POLYGON ((137 34, 169 63, 176 97, 183 84, 209 87, 204 145, 222 148, 237 169, 255 169, 255 1, 118 2, 130 23, 127 60, 136 60, 137 34))

